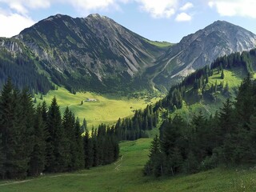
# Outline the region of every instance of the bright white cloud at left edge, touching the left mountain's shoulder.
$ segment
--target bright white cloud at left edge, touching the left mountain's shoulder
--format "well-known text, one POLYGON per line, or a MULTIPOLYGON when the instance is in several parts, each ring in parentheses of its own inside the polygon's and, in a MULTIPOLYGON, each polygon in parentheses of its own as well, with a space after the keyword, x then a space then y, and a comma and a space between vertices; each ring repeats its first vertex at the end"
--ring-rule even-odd
POLYGON ((21 14, 0 14, 0 37, 10 38, 33 24, 34 21, 31 18, 24 17, 21 14))

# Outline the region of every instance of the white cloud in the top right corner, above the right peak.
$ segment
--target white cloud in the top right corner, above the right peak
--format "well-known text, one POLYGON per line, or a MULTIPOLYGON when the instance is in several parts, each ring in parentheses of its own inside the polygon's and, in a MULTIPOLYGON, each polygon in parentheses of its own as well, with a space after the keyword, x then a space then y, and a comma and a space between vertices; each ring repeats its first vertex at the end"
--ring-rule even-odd
POLYGON ((218 14, 222 16, 256 18, 255 0, 211 0, 208 5, 216 8, 218 14))

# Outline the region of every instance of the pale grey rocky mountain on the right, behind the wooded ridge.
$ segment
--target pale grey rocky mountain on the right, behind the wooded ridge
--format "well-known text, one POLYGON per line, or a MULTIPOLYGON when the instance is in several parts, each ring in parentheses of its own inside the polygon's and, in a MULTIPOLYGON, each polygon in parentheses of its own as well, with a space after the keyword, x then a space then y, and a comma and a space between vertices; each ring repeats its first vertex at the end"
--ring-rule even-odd
POLYGON ((154 84, 170 88, 187 74, 210 65, 218 57, 255 46, 255 34, 229 22, 217 21, 171 46, 148 72, 154 84))

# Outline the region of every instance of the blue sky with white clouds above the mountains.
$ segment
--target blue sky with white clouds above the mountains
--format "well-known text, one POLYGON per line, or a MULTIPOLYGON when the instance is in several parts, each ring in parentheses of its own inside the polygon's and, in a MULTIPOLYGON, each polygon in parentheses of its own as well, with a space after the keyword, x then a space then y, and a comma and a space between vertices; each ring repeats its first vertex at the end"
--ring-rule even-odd
POLYGON ((256 34, 255 0, 0 0, 0 37, 55 14, 100 14, 154 41, 179 42, 217 20, 256 34))

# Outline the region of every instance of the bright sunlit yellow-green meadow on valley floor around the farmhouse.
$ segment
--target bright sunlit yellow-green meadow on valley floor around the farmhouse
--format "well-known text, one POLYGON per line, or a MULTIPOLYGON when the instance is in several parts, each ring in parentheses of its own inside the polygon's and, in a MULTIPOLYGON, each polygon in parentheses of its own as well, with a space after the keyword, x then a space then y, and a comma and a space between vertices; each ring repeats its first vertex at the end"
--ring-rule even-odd
MULTIPOLYGON (((114 98, 90 92, 70 94, 70 92, 62 87, 59 87, 58 90, 50 90, 43 99, 50 105, 54 95, 57 98, 58 105, 62 112, 65 110, 66 106, 69 106, 81 122, 83 118, 86 118, 89 129, 92 126, 98 126, 102 122, 106 124, 117 122, 118 118, 133 115, 133 110, 144 109, 146 105, 151 102, 154 103, 159 99, 153 98, 150 101, 145 101, 145 99, 142 98, 114 98), (98 102, 84 102, 81 106, 81 101, 86 100, 86 98, 95 98, 98 102)), ((39 98, 40 95, 38 95, 37 98, 38 102, 41 101, 39 98)))

